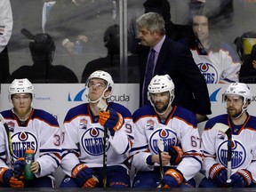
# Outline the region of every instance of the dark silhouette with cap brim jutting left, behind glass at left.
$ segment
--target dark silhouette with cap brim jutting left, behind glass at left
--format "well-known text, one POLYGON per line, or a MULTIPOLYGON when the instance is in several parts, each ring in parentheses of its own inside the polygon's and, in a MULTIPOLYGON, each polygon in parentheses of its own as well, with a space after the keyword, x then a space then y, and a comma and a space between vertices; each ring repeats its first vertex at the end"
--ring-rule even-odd
POLYGON ((75 73, 61 65, 52 65, 55 43, 48 34, 32 35, 28 30, 22 32, 30 40, 33 65, 21 66, 12 73, 11 81, 16 78, 28 78, 32 83, 78 83, 75 73))

